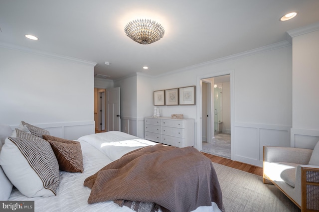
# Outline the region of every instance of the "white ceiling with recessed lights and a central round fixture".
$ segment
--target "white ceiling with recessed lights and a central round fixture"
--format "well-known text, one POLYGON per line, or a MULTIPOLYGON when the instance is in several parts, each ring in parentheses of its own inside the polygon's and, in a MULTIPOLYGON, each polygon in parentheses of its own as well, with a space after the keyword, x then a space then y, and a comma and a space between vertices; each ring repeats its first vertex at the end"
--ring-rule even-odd
POLYGON ((111 80, 158 76, 285 41, 286 31, 319 22, 318 11, 319 0, 0 0, 0 44, 96 62, 95 74, 111 80), (164 37, 131 40, 124 27, 138 18, 159 22, 164 37))

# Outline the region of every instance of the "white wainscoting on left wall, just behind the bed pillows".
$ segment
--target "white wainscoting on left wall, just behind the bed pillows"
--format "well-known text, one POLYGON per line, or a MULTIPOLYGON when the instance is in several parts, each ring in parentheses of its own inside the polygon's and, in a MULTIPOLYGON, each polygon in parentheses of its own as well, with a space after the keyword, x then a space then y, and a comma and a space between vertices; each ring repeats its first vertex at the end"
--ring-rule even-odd
MULTIPOLYGON (((61 123, 41 123, 33 124, 34 126, 46 129, 50 132, 50 135, 76 140, 83 135, 95 133, 95 122, 93 121, 74 121, 74 122, 61 122, 61 123)), ((10 125, 14 130, 18 125, 10 125)))

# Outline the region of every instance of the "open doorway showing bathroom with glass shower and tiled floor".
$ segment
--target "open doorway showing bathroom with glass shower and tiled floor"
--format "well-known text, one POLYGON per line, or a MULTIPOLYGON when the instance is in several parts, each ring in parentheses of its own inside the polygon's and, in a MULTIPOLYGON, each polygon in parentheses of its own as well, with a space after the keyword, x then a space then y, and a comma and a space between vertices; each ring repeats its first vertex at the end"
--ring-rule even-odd
POLYGON ((231 159, 230 75, 202 80, 202 152, 231 159))

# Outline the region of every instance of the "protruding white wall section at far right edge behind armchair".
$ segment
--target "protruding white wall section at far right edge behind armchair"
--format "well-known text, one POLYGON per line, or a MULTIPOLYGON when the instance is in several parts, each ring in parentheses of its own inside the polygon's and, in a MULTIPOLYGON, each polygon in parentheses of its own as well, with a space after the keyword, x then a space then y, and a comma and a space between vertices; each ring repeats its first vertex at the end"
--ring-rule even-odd
POLYGON ((312 149, 319 140, 318 81, 319 30, 293 37, 294 147, 312 149))

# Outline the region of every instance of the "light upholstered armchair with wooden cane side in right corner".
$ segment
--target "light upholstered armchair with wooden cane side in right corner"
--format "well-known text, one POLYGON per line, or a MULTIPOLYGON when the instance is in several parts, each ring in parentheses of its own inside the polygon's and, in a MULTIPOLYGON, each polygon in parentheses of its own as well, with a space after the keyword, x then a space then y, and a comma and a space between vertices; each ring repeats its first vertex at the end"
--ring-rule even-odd
POLYGON ((302 212, 319 211, 319 142, 314 150, 264 146, 264 183, 277 186, 302 212))

